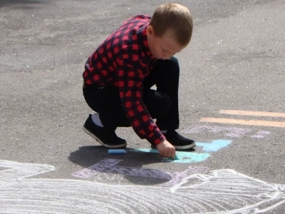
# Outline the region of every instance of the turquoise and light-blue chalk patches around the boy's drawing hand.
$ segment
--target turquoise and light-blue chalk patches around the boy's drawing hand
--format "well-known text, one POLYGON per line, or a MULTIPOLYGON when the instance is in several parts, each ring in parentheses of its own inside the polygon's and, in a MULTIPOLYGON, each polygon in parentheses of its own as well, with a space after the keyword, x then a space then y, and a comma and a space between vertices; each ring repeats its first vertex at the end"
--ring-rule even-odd
MULTIPOLYGON (((172 163, 197 163, 205 161, 212 152, 216 152, 221 148, 229 146, 232 141, 229 140, 216 140, 210 143, 196 143, 196 146, 202 147, 202 151, 204 153, 195 153, 191 151, 176 151, 176 155, 178 158, 171 159, 171 158, 163 158, 162 161, 165 162, 172 162, 172 163)), ((133 149, 133 151, 137 152, 145 152, 145 153, 158 153, 157 149, 152 148, 138 148, 133 149)))

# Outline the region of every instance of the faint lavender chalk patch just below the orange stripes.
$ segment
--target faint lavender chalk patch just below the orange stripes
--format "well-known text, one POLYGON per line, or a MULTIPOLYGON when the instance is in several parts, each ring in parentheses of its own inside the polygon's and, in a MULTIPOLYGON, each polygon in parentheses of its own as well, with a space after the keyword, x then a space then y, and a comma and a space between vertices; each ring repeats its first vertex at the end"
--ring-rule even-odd
POLYGON ((231 126, 207 126, 207 125, 192 125, 182 133, 194 134, 200 132, 209 132, 209 133, 223 133, 224 136, 229 138, 241 138, 242 136, 247 136, 251 133, 250 137, 252 138, 264 138, 270 134, 269 131, 258 131, 255 134, 252 134, 251 128, 236 128, 231 126))

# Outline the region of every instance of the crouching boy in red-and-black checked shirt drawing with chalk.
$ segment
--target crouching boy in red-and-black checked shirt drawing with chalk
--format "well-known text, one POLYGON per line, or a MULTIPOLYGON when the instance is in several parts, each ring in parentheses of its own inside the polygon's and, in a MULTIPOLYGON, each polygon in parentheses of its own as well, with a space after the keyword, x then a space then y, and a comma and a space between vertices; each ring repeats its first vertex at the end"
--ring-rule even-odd
POLYGON ((132 126, 165 158, 175 158, 175 148, 195 147, 175 131, 180 69, 173 57, 190 43, 192 28, 185 6, 162 4, 152 18, 135 16, 110 34, 86 61, 83 95, 97 113, 83 130, 106 148, 123 148, 115 129, 132 126))

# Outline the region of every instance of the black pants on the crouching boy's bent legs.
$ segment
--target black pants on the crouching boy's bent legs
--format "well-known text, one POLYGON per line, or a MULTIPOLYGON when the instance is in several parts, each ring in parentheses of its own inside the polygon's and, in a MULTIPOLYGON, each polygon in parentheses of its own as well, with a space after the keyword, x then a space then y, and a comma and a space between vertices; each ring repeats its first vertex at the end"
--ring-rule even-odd
MULTIPOLYGON (((143 82, 142 99, 160 130, 175 130, 179 127, 178 84, 180 68, 177 58, 157 60, 156 65, 143 82), (156 85, 157 90, 150 89, 156 85)), ((99 113, 106 128, 128 127, 130 122, 123 110, 117 87, 98 89, 83 88, 88 106, 99 113)))

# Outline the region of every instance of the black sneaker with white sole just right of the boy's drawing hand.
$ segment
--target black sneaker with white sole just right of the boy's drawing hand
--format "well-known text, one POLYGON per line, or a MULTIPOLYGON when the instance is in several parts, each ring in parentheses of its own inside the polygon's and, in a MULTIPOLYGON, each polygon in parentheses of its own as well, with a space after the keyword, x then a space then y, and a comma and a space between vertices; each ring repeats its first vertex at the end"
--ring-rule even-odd
POLYGON ((195 141, 180 136, 176 131, 167 131, 163 134, 168 142, 172 144, 177 150, 187 150, 196 146, 195 141))

